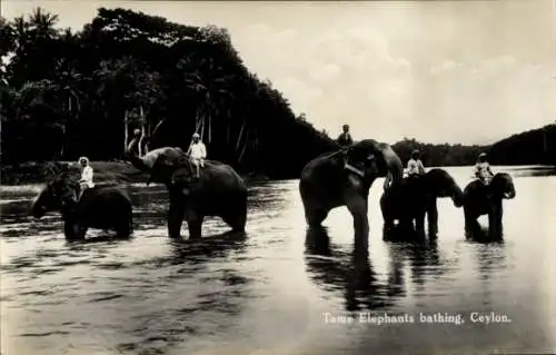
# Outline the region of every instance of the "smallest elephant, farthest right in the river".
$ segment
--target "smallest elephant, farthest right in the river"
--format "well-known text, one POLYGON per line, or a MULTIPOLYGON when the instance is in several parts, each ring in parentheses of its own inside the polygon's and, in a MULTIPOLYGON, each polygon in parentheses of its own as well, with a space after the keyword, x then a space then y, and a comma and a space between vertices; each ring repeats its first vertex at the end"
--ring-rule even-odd
POLYGON ((479 229, 477 218, 488 215, 488 236, 503 236, 503 199, 516 197, 516 189, 512 176, 507 172, 496 174, 490 184, 484 185, 480 180, 470 181, 464 189, 465 231, 471 234, 479 229))

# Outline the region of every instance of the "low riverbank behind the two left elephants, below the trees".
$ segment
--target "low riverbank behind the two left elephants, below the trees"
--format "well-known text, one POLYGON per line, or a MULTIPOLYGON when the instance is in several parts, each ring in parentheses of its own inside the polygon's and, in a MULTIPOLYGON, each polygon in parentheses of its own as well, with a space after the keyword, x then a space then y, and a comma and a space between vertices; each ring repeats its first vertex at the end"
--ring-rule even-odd
MULTIPOLYGON (((69 162, 69 161, 60 161, 69 162)), ((53 161, 27 161, 20 165, 2 166, 0 170, 0 183, 4 186, 42 184, 49 176, 49 167, 53 161)), ((148 174, 140 171, 127 161, 91 161, 95 170, 96 183, 107 184, 137 184, 146 183, 148 174)), ((246 181, 265 181, 265 176, 241 175, 246 181)))

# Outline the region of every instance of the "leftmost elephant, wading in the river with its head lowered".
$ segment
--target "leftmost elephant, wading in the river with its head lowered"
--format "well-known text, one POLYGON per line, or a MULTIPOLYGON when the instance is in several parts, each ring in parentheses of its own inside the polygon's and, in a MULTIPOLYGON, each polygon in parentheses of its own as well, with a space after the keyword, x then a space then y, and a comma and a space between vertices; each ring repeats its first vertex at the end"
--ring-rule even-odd
POLYGON ((79 193, 79 172, 62 167, 37 196, 31 214, 41 218, 49 211, 60 211, 68 240, 85 239, 89 228, 115 230, 118 238, 133 233, 131 200, 123 189, 96 185, 78 200, 79 193))

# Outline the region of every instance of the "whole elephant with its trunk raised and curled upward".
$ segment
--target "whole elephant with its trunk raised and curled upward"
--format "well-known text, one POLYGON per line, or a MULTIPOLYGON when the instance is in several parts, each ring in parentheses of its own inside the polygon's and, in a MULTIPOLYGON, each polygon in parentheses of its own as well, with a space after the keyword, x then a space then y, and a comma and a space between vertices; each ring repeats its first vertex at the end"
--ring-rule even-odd
POLYGON ((150 174, 148 183, 166 185, 169 194, 168 235, 181 238, 181 225, 187 220, 189 238, 201 237, 202 220, 208 216, 221 217, 232 231, 245 231, 247 220, 247 187, 229 165, 205 160, 200 177, 180 148, 163 147, 142 157, 133 149, 133 139, 127 149, 131 164, 150 174))

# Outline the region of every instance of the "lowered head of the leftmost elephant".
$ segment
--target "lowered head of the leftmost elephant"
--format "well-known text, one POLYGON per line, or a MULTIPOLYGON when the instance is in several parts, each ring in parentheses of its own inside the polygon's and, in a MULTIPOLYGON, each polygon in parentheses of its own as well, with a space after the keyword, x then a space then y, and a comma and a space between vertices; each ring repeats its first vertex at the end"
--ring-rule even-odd
POLYGON ((31 215, 34 218, 41 218, 44 214, 54 210, 67 215, 77 204, 79 189, 78 178, 72 171, 58 174, 34 199, 31 215))

